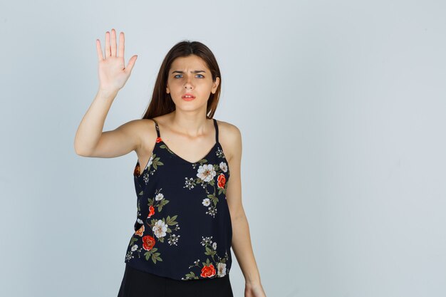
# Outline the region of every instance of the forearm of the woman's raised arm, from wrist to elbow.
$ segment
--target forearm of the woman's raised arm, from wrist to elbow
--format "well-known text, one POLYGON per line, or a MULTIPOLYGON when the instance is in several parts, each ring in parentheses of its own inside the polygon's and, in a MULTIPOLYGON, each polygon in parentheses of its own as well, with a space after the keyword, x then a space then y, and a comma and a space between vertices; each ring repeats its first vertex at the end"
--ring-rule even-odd
POLYGON ((118 90, 98 90, 93 103, 83 116, 74 138, 74 149, 78 155, 88 155, 100 139, 105 118, 118 90))

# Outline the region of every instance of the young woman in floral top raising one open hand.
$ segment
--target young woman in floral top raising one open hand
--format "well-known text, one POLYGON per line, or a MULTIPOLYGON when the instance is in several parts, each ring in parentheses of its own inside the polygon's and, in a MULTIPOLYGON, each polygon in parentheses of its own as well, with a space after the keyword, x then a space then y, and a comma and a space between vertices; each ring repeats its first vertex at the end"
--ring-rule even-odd
POLYGON ((118 293, 128 296, 233 296, 231 248, 245 297, 265 297, 242 206, 239 129, 215 120, 222 77, 213 53, 182 41, 165 56, 140 120, 103 132, 105 117, 137 56, 124 61, 115 30, 96 40, 99 89, 76 132, 76 153, 118 157, 135 151, 137 219, 118 293))

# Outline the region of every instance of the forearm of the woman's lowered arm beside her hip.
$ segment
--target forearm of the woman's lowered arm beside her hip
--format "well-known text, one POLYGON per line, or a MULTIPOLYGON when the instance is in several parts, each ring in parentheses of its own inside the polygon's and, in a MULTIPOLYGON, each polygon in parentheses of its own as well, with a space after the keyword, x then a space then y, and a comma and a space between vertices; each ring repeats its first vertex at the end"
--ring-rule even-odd
POLYGON ((251 246, 249 224, 244 212, 232 220, 232 250, 237 257, 246 283, 260 283, 254 252, 251 246))

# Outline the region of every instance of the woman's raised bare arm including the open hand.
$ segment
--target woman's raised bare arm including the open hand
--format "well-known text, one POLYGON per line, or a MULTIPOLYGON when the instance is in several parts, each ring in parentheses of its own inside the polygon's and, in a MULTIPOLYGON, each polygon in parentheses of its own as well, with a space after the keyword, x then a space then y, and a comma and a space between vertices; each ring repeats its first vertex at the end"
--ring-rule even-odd
POLYGON ((99 90, 93 103, 83 116, 76 131, 74 149, 76 154, 84 157, 118 157, 135 150, 140 145, 138 135, 133 132, 138 120, 130 121, 113 131, 103 132, 105 118, 118 91, 128 80, 136 61, 136 56, 130 58, 128 67, 124 64, 124 33, 120 33, 120 46, 117 56, 116 32, 112 29, 105 33, 105 58, 96 40, 98 51, 99 90))

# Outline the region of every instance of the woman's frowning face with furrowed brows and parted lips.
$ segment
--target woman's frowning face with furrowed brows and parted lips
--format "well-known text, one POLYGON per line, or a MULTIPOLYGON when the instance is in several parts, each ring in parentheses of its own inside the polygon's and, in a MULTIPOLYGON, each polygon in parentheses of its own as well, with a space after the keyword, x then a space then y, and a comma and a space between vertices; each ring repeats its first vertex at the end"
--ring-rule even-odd
POLYGON ((206 108, 210 93, 214 94, 219 85, 219 78, 212 81, 212 75, 206 63, 199 56, 191 55, 176 58, 167 76, 167 93, 170 93, 177 109, 196 110, 206 108), (185 98, 185 94, 195 98, 185 98))

